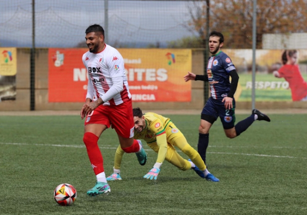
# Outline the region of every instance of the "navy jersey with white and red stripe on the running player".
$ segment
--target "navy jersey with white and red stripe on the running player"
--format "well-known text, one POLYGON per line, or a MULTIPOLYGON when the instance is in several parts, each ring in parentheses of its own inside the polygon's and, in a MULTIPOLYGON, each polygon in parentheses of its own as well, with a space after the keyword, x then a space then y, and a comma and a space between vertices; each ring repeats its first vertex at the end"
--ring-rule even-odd
POLYGON ((211 97, 222 100, 230 91, 229 72, 236 69, 230 57, 223 51, 209 58, 207 74, 211 97))

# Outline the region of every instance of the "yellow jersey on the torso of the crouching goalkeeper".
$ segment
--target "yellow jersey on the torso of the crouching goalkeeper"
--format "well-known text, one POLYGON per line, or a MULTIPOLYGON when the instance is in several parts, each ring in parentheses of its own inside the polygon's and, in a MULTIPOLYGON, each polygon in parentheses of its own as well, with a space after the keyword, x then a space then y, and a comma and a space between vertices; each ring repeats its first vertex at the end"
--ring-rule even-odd
POLYGON ((134 132, 134 139, 142 139, 150 144, 156 141, 156 137, 165 133, 165 128, 171 120, 156 113, 144 114, 145 129, 141 132, 134 132))

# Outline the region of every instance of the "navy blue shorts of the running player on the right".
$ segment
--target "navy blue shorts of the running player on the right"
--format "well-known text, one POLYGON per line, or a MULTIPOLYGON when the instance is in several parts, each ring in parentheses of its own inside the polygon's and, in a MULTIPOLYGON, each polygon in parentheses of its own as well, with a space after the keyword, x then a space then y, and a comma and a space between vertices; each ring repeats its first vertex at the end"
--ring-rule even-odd
MULTIPOLYGON (((214 121, 220 117, 224 129, 231 129, 235 126, 236 101, 233 99, 233 108, 225 109, 224 103, 221 100, 210 97, 202 111, 202 119, 204 115, 211 116, 214 121)), ((206 116, 205 116, 206 117, 206 116)), ((206 119, 205 119, 206 120, 206 119)), ((214 122, 213 121, 213 122, 214 122)), ((213 122, 211 122, 213 124, 213 122)))

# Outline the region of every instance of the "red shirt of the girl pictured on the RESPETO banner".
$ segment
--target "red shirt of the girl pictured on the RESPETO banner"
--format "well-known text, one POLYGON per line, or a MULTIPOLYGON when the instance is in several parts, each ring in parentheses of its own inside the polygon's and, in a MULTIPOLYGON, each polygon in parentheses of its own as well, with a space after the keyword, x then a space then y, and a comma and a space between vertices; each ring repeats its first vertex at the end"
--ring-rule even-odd
POLYGON ((301 75, 299 65, 285 64, 278 70, 280 77, 288 81, 291 88, 292 100, 301 101, 307 95, 307 82, 301 75))

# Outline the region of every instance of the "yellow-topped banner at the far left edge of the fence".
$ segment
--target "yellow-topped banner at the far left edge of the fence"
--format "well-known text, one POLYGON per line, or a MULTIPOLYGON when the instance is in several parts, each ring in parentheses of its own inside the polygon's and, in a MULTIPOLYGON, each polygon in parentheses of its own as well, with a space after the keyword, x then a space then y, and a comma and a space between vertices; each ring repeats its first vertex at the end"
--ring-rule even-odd
POLYGON ((16 99, 16 48, 0 48, 0 101, 16 99))

